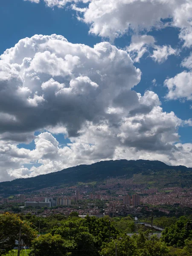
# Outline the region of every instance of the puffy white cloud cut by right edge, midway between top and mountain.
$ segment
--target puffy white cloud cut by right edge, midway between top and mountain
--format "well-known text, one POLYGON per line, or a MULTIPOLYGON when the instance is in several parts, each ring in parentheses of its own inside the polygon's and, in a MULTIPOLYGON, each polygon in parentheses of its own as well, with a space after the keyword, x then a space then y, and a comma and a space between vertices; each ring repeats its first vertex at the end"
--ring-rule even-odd
POLYGON ((164 81, 169 89, 167 99, 187 99, 192 100, 192 73, 183 71, 173 78, 164 81))

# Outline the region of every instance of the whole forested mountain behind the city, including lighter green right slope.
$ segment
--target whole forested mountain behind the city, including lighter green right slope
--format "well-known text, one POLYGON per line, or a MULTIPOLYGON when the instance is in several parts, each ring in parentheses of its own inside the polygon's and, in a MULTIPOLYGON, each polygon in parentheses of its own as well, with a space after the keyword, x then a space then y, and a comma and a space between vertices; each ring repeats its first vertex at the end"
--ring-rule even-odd
POLYGON ((151 183, 159 188, 166 186, 190 187, 192 168, 168 166, 160 161, 109 160, 70 167, 59 172, 22 178, 0 183, 0 194, 12 195, 32 192, 51 186, 68 186, 79 182, 100 182, 108 177, 132 178, 136 184, 151 183))

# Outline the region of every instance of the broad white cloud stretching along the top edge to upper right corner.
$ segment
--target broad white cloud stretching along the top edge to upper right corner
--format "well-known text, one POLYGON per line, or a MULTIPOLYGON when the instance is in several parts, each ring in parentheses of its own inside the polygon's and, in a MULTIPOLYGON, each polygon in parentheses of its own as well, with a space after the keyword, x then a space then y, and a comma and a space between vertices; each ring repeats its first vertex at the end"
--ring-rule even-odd
MULTIPOLYGON (((39 0, 29 0, 38 3, 39 0)), ((146 32, 167 25, 180 29, 185 47, 192 45, 192 3, 189 0, 42 0, 49 7, 70 3, 90 33, 111 40, 129 30, 146 32), (81 3, 87 3, 84 7, 81 3), (165 19, 172 19, 164 23, 165 19)), ((143 49, 144 51, 144 49, 143 49)))

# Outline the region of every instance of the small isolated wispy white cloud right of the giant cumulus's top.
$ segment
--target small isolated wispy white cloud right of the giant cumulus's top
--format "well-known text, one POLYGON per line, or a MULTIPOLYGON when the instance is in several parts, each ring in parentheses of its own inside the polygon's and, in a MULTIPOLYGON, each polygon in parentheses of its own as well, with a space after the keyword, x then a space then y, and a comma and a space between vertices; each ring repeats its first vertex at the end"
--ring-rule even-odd
POLYGON ((176 50, 173 49, 170 45, 163 45, 163 46, 155 46, 155 50, 153 51, 153 54, 151 55, 151 58, 153 58, 154 61, 157 61, 158 63, 162 63, 163 61, 166 61, 169 55, 175 55, 176 50))

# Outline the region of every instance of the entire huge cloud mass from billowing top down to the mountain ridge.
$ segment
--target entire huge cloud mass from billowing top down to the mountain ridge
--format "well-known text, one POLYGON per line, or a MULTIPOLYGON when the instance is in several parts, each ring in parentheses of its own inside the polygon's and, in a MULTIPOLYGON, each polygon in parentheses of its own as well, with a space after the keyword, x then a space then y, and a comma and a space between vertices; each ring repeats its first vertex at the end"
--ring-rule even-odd
POLYGON ((156 93, 133 90, 140 76, 128 53, 108 42, 91 48, 35 35, 7 49, 0 56, 0 180, 117 159, 124 151, 128 159, 166 155, 176 163, 177 129, 191 122, 163 112, 156 93), (51 133, 71 143, 59 145, 51 133), (32 140, 32 150, 18 146, 32 140))

